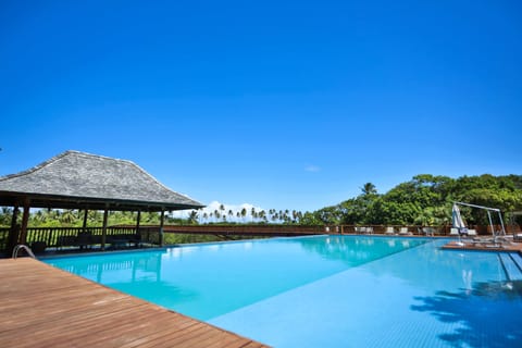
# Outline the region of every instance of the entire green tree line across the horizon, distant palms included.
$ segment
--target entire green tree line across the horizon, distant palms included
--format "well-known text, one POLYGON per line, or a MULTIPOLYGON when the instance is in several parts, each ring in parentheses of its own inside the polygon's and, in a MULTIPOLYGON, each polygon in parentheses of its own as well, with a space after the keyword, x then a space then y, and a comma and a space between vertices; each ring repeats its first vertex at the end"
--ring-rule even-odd
MULTIPOLYGON (((336 206, 313 212, 297 210, 226 211, 222 204, 213 212, 190 211, 187 219, 166 214, 166 224, 301 224, 301 225, 445 225, 451 221, 451 206, 462 201, 500 209, 504 213, 522 210, 522 175, 434 176, 421 174, 380 194, 372 183, 361 187, 361 194, 336 206)), ((461 208, 469 224, 487 224, 483 210, 461 208)), ((11 224, 12 208, 0 211, 0 226, 11 224)), ((505 219, 509 216, 505 216, 505 219)), ((103 213, 89 211, 88 226, 101 225, 103 213)), ((110 212, 109 224, 135 224, 136 212, 110 212)), ((84 213, 77 210, 40 209, 29 216, 29 226, 82 226, 84 213)), ((159 224, 160 214, 142 212, 141 224, 159 224)))

